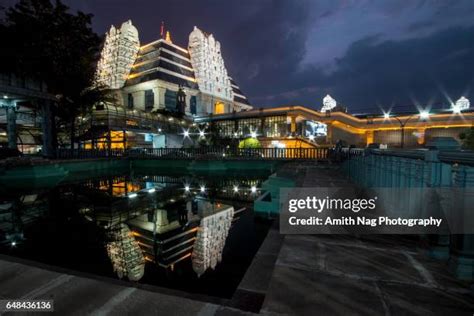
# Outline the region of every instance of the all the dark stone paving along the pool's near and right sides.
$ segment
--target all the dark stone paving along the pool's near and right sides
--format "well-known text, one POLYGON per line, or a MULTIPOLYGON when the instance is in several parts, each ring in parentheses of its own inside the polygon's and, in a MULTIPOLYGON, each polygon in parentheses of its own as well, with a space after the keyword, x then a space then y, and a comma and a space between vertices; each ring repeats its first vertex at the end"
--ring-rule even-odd
MULTIPOLYGON (((298 164, 285 172, 300 186, 351 185, 332 168, 298 164)), ((427 258, 413 240, 283 236, 278 227, 269 231, 234 297, 226 302, 209 303, 0 258, 0 299, 6 298, 54 299, 58 315, 474 314, 468 284, 451 277, 443 262, 427 258)))

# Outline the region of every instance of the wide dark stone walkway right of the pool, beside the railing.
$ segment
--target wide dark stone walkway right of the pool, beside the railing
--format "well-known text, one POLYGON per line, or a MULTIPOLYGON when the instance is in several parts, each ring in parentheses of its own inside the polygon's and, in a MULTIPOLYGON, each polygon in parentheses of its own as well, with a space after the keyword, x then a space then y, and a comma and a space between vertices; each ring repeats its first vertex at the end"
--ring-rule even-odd
MULTIPOLYGON (((347 186, 331 166, 297 170, 298 185, 347 186)), ((285 172, 285 171, 283 171, 285 172)), ((413 237, 287 235, 260 313, 285 315, 472 315, 473 292, 413 237)))

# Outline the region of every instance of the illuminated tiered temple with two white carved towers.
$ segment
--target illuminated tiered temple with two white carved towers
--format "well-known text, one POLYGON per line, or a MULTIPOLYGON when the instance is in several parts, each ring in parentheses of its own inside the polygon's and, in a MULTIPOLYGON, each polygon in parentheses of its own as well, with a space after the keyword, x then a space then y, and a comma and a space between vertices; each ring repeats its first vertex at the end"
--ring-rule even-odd
POLYGON ((178 112, 186 116, 250 110, 245 95, 228 75, 221 45, 197 27, 187 48, 169 32, 140 47, 131 21, 106 34, 96 83, 114 90, 119 105, 144 112, 178 112), (184 103, 178 104, 178 94, 184 103))

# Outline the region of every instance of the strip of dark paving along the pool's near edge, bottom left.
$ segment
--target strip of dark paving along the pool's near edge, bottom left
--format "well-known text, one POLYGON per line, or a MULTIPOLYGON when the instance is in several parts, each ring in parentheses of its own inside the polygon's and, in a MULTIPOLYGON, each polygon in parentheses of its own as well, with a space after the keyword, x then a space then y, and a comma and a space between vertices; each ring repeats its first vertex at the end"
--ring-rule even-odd
POLYGON ((52 299, 57 315, 244 315, 216 304, 0 260, 0 299, 12 298, 52 299))

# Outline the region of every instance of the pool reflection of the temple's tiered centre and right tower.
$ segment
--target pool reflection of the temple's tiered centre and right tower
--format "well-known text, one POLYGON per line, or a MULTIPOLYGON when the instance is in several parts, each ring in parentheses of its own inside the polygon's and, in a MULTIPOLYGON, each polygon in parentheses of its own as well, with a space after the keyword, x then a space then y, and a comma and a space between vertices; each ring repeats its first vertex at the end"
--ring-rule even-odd
POLYGON ((172 209, 157 209, 128 221, 145 259, 160 267, 192 257, 198 275, 215 268, 222 259, 234 208, 195 199, 172 209))

